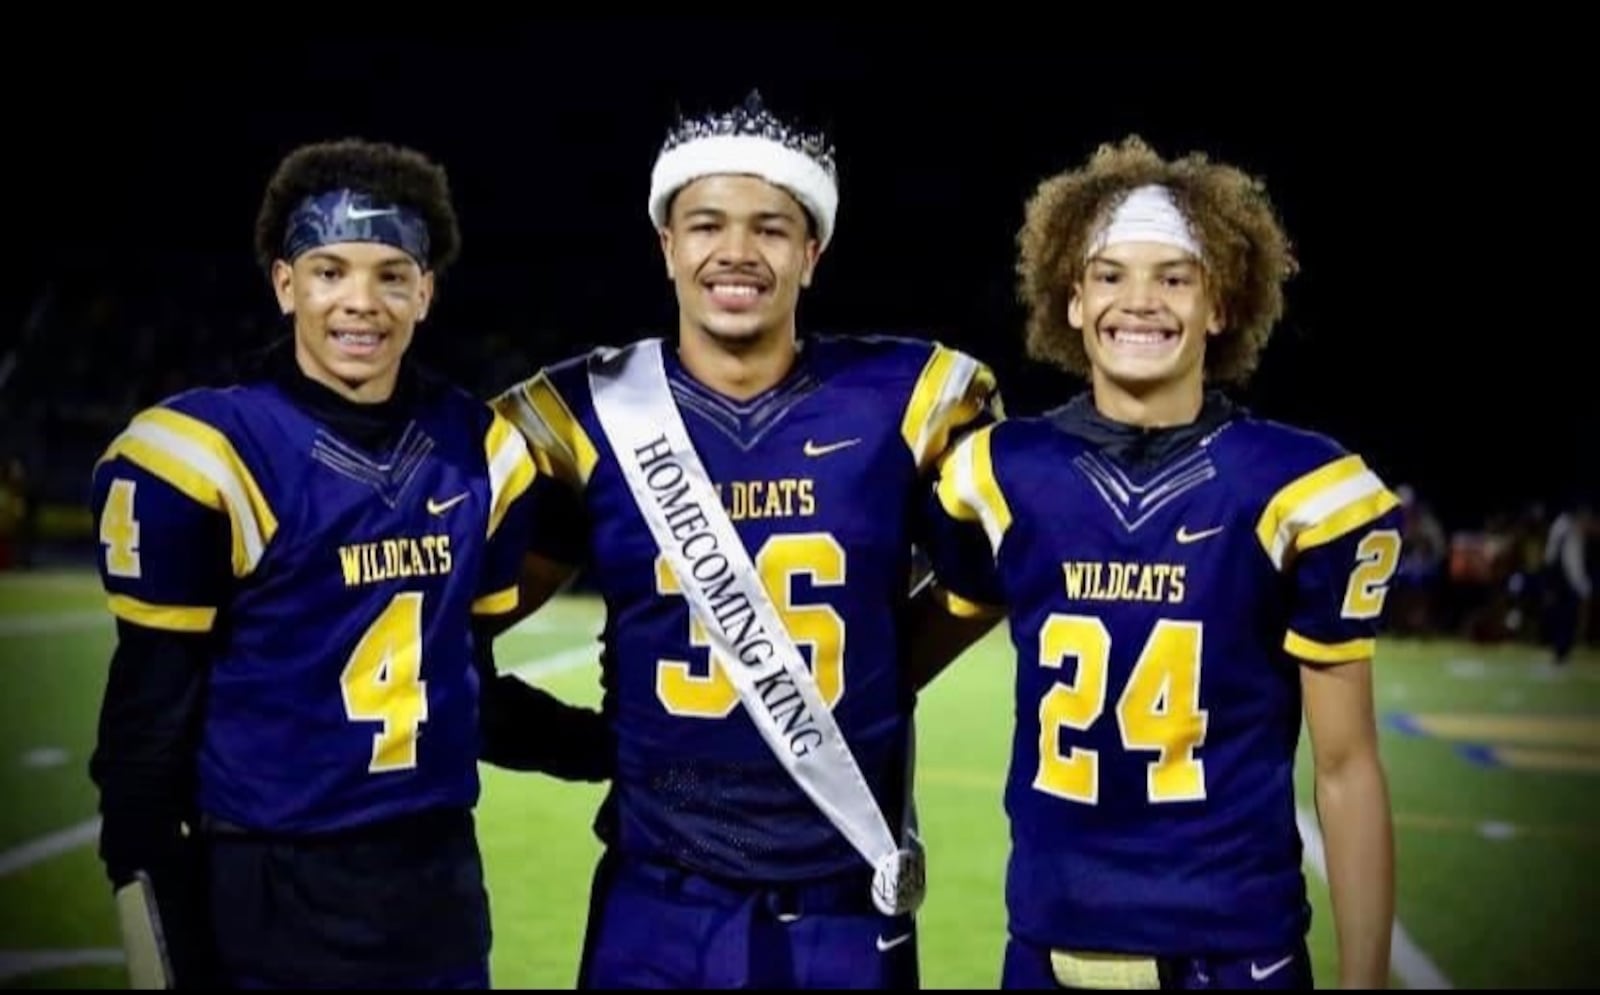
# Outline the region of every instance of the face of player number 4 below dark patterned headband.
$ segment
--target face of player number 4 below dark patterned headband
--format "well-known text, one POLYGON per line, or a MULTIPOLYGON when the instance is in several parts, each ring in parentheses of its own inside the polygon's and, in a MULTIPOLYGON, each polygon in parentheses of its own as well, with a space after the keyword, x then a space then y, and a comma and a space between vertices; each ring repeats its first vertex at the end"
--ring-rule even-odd
POLYGON ((376 242, 344 242, 277 261, 278 309, 294 317, 294 358, 344 397, 387 400, 416 325, 434 299, 434 274, 376 242))

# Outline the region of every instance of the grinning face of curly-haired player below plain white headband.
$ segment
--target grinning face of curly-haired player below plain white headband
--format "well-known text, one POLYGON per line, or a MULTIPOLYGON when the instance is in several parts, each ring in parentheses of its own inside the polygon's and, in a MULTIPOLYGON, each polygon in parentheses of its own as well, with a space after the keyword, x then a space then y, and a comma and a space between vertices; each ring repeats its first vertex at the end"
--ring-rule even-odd
POLYGON ((1181 248, 1123 242, 1083 270, 1067 322, 1083 334, 1096 397, 1198 406, 1206 336, 1222 331, 1205 269, 1181 248))

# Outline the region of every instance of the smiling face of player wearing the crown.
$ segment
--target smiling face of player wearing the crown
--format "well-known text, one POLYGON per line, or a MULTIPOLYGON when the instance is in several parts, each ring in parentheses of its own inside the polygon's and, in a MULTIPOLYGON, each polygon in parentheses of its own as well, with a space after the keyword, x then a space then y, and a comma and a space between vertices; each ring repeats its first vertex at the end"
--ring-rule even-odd
POLYGON ((800 202, 755 176, 706 176, 678 190, 661 251, 678 334, 728 349, 794 339, 800 290, 821 254, 800 202))

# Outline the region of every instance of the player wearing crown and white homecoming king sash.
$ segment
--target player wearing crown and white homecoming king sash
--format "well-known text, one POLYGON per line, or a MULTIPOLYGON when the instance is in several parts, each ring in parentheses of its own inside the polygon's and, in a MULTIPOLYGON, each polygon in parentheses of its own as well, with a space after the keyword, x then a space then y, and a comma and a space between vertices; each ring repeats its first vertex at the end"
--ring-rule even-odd
POLYGON ((918 982, 902 664, 990 622, 910 601, 914 545, 931 467, 998 397, 934 342, 798 333, 837 198, 827 141, 755 94, 682 122, 648 202, 675 334, 498 403, 571 494, 534 513, 528 603, 579 563, 606 603, 584 987, 918 982))

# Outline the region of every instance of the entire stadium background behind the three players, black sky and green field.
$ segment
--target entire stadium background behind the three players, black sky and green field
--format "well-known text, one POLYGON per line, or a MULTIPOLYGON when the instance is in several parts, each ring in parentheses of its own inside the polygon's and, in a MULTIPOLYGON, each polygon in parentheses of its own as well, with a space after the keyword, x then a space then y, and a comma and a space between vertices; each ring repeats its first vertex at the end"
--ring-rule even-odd
MULTIPOLYGON (((1440 537, 1435 582, 1406 600, 1405 638, 1381 659, 1400 918, 1437 973, 1411 961, 1397 979, 1592 976, 1600 889, 1582 881, 1600 840, 1600 693, 1592 649, 1563 672, 1542 665, 1534 582, 1544 528, 1594 493, 1600 462, 1594 374, 1578 354, 1594 280, 1587 259, 1560 256, 1581 211, 1558 152, 1578 70, 1558 51, 1514 72, 1506 48, 1330 29, 1317 54, 1278 45, 1270 22, 1250 26, 1267 32, 1256 40, 1155 42, 1179 27, 1155 14, 480 30, 306 16, 187 24, 198 34, 186 40, 117 14, 78 30, 46 11, 0 69, 14 138, 0 286, 0 785, 13 800, 0 806, 0 982, 74 984, 40 952, 110 958, 83 829, 109 648, 85 574, 88 466, 138 406, 227 379, 278 331, 251 259, 277 158, 363 134, 446 165, 464 254, 418 349, 486 395, 594 344, 670 334, 645 219, 650 163, 678 109, 752 86, 838 144, 838 237, 802 325, 968 349, 995 366, 1011 413, 1078 387, 1021 350, 1014 234, 1042 178, 1130 131, 1266 178, 1304 272, 1243 400, 1366 454, 1414 490, 1418 534, 1440 537)), ((594 624, 594 606, 573 598, 517 633, 510 656, 589 696, 594 624)), ((950 877, 942 902, 930 899, 925 953, 941 987, 992 984, 998 958, 1008 662, 995 640, 974 656, 984 662, 930 691, 922 723, 934 771, 925 821, 949 833, 934 833, 950 877)), ((486 790, 506 875, 501 981, 562 985, 592 798, 498 776, 486 790), (566 877, 528 870, 546 853, 566 877)), ((82 984, 115 984, 114 963, 82 963, 67 968, 86 971, 82 984)))

